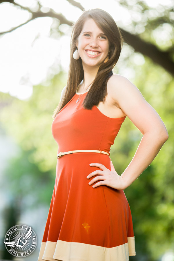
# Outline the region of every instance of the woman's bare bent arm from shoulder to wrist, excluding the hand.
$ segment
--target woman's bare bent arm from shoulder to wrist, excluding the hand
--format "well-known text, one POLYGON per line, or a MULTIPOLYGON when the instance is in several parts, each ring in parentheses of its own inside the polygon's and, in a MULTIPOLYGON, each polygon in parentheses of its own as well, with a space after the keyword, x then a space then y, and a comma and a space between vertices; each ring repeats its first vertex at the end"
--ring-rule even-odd
POLYGON ((131 81, 124 76, 113 75, 109 88, 119 108, 143 134, 132 161, 121 176, 126 188, 151 164, 168 139, 168 133, 158 113, 131 81))

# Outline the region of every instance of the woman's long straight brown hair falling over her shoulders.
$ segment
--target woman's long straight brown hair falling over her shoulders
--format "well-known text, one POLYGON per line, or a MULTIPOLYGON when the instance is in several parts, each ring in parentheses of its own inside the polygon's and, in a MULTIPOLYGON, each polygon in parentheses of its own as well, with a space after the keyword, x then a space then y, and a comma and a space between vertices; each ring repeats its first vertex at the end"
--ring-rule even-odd
POLYGON ((112 69, 119 59, 123 46, 123 37, 113 17, 108 12, 99 8, 84 10, 79 19, 72 26, 73 30, 70 44, 70 65, 68 70, 66 90, 52 115, 53 118, 55 118, 57 113, 75 95, 77 86, 84 78, 81 58, 75 60, 73 58, 73 53, 76 50, 77 38, 83 29, 85 21, 88 18, 92 18, 97 26, 101 28, 108 37, 110 54, 108 61, 99 67, 93 84, 91 85, 83 101, 83 107, 86 109, 92 109, 94 105, 97 106, 99 102, 104 101, 105 96, 107 95, 107 81, 110 76, 113 75, 112 69))

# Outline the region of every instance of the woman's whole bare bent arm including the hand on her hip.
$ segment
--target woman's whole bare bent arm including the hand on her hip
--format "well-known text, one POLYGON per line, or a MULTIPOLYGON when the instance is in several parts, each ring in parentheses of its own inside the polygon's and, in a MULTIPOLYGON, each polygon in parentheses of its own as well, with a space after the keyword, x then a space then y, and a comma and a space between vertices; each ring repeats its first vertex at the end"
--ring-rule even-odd
POLYGON ((107 185, 114 189, 124 190, 151 164, 168 139, 168 133, 158 113, 146 102, 138 88, 127 78, 122 75, 113 75, 108 80, 107 91, 117 107, 141 131, 143 137, 132 161, 121 176, 115 171, 112 162, 110 162, 111 170, 103 164, 91 162, 91 167, 98 167, 101 170, 93 171, 87 178, 99 175, 89 182, 89 185, 92 185, 100 180, 93 185, 93 188, 107 185))

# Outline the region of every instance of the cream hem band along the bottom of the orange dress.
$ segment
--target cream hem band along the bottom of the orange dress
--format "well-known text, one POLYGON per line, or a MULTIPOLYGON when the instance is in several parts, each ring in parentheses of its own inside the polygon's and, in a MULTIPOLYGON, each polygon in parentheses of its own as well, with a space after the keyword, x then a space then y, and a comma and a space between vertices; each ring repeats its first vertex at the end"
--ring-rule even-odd
POLYGON ((135 237, 129 237, 127 243, 111 248, 57 240, 41 243, 38 261, 128 261, 128 256, 132 255, 136 255, 135 237))

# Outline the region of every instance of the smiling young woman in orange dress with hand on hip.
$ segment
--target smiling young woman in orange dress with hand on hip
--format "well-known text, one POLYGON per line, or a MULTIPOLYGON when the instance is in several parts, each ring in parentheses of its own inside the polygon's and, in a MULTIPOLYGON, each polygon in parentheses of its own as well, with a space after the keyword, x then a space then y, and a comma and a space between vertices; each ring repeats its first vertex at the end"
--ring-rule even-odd
POLYGON ((39 261, 126 261, 135 255, 124 189, 151 164, 168 133, 137 87, 113 74, 122 43, 104 10, 84 11, 73 25, 68 81, 53 115, 56 179, 39 261), (126 116, 143 137, 118 175, 109 151, 126 116))

